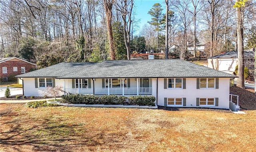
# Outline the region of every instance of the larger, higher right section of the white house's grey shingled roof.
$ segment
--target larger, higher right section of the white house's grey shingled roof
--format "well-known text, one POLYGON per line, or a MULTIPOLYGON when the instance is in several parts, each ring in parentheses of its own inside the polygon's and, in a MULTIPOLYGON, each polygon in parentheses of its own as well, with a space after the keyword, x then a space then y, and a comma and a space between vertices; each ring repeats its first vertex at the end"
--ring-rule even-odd
POLYGON ((236 77, 180 59, 107 60, 58 78, 236 77))

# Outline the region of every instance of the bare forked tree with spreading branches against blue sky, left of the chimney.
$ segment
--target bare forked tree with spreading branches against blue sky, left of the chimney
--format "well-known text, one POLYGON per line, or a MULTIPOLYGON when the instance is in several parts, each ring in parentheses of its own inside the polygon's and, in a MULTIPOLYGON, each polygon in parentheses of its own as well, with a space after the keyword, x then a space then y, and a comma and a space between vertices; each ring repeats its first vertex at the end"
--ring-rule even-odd
POLYGON ((130 60, 130 30, 132 24, 133 0, 119 0, 116 2, 117 10, 121 12, 124 27, 124 43, 127 51, 127 59, 130 60), (126 18, 128 17, 128 18, 126 18))

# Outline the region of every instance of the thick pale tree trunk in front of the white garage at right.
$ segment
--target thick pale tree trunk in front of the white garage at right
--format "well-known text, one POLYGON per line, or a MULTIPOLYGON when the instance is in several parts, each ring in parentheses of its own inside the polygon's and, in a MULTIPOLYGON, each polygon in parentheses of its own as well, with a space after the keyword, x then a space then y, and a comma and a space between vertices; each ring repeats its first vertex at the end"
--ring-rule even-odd
MULTIPOLYGON (((239 0, 236 0, 237 2, 239 0)), ((240 88, 244 87, 244 8, 236 8, 236 17, 237 17, 237 52, 238 52, 238 70, 237 70, 237 83, 236 86, 240 88)))

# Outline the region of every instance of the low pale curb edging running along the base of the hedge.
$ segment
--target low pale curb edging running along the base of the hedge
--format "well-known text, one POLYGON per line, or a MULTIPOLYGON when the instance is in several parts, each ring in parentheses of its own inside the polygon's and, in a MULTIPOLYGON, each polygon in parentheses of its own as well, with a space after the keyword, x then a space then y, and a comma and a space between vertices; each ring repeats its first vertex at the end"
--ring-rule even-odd
POLYGON ((157 106, 137 106, 137 105, 86 105, 86 104, 67 104, 57 103, 68 107, 101 107, 101 108, 140 108, 140 109, 157 109, 157 106))

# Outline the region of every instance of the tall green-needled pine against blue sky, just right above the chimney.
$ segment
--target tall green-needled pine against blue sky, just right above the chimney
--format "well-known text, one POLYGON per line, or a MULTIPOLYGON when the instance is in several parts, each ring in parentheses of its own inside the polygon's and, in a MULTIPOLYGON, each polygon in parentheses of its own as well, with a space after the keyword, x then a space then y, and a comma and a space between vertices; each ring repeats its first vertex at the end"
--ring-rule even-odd
POLYGON ((152 16, 151 21, 148 23, 155 26, 155 30, 157 31, 157 48, 159 46, 159 31, 162 30, 162 25, 163 25, 163 17, 164 14, 162 13, 162 8, 161 4, 156 3, 152 6, 152 8, 148 11, 148 14, 152 16))

